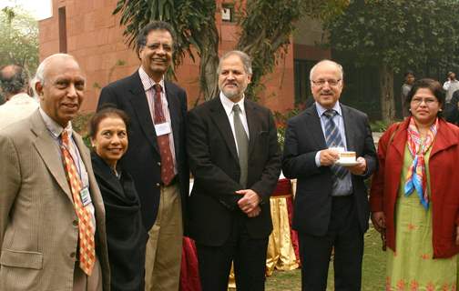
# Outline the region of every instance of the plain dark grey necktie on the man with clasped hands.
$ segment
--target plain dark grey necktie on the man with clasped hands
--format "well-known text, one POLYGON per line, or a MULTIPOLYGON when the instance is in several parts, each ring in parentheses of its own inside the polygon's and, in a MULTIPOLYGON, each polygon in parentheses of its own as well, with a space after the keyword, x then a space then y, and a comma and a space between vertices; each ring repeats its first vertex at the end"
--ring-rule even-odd
POLYGON ((249 138, 244 130, 242 121, 240 120, 240 106, 233 106, 233 122, 234 134, 238 143, 238 156, 240 162, 240 186, 247 186, 247 171, 248 171, 248 156, 249 156, 249 138))

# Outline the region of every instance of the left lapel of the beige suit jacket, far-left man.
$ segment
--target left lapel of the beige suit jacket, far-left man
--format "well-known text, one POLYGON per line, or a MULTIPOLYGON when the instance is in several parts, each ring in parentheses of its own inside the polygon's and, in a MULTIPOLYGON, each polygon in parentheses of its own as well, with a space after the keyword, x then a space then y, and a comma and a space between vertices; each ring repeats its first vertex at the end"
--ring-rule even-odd
POLYGON ((36 113, 32 115, 31 122, 32 132, 36 135, 34 146, 36 147, 38 155, 41 156, 49 172, 52 176, 54 176, 57 184, 66 193, 66 196, 73 201, 61 157, 59 156, 59 153, 56 152, 56 146, 52 146, 56 143, 56 141, 47 131, 45 122, 43 121, 39 111, 36 111, 36 113))

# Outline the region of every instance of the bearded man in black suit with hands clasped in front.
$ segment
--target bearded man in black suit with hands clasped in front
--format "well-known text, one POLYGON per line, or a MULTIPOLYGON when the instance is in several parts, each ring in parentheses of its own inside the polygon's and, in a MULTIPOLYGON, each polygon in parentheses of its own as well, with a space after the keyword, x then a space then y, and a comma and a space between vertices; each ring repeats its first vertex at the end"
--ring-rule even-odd
POLYGON ((187 149, 194 175, 189 210, 203 291, 228 288, 231 261, 238 290, 264 290, 272 230, 270 195, 280 175, 270 110, 244 95, 250 57, 220 58, 216 98, 189 112, 187 149))

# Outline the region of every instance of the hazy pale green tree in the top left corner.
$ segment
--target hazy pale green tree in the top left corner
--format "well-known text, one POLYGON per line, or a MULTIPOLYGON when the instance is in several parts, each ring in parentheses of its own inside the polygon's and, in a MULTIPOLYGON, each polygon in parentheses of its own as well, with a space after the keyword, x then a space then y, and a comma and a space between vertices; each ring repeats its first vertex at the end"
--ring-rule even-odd
POLYGON ((18 7, 0 12, 0 65, 17 64, 35 72, 38 65, 38 23, 18 7))

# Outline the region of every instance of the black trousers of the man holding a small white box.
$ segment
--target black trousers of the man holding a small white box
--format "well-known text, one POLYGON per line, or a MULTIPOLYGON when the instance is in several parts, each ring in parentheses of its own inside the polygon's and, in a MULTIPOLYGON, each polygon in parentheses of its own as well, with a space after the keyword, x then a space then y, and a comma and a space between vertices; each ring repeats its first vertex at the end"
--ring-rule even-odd
POLYGON ((326 290, 333 247, 335 290, 361 290, 363 233, 353 199, 332 198, 331 221, 325 236, 299 233, 302 291, 326 290))

